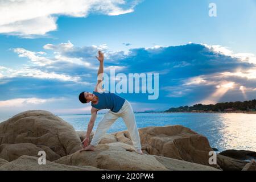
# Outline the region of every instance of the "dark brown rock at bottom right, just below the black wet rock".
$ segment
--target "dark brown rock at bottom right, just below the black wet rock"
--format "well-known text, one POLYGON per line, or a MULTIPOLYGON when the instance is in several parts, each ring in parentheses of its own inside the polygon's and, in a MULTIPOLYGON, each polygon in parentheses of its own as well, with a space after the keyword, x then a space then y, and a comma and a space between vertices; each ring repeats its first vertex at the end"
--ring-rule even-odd
POLYGON ((241 171, 247 162, 217 154, 217 164, 224 171, 241 171))

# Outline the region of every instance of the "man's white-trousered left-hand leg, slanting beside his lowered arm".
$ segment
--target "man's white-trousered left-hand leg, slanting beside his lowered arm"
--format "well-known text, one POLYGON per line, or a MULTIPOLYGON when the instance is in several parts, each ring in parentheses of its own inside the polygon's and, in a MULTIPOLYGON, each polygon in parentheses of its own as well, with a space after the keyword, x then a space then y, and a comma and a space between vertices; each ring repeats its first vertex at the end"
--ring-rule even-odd
POLYGON ((109 130, 110 126, 115 122, 115 120, 117 120, 117 118, 118 115, 110 113, 110 111, 104 114, 104 117, 101 119, 100 123, 98 123, 95 134, 93 135, 93 139, 90 142, 92 146, 96 146, 100 142, 101 138, 109 130))

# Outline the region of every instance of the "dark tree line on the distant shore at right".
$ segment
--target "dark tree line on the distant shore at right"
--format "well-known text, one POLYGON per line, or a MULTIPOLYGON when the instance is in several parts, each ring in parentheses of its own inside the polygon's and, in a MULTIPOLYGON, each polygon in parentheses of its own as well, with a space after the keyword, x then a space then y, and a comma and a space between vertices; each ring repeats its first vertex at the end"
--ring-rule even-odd
POLYGON ((171 107, 165 112, 192 112, 192 111, 255 111, 256 100, 237 101, 237 102, 220 102, 217 104, 196 104, 193 106, 171 107))

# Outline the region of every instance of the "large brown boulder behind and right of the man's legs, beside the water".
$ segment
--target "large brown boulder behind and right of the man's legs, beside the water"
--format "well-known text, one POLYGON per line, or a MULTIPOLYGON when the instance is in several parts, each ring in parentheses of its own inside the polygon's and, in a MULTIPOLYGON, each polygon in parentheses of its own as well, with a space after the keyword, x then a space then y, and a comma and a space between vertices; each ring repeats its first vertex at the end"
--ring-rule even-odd
MULTIPOLYGON (((165 156, 210 166, 212 148, 208 139, 187 127, 175 125, 139 129, 142 150, 150 155, 165 156)), ((118 142, 132 144, 128 131, 115 133, 118 142)), ((217 166, 215 166, 217 167, 217 166)))

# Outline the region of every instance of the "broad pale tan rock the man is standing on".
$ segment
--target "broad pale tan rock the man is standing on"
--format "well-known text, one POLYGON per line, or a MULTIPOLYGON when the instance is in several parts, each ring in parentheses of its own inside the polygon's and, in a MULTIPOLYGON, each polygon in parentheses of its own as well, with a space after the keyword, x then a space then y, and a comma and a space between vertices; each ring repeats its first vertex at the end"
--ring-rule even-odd
POLYGON ((183 160, 170 159, 155 155, 140 155, 129 144, 115 142, 99 144, 94 151, 77 151, 64 156, 56 163, 72 166, 94 166, 110 170, 218 170, 201 164, 189 163, 183 160))

